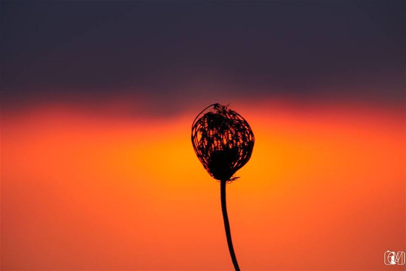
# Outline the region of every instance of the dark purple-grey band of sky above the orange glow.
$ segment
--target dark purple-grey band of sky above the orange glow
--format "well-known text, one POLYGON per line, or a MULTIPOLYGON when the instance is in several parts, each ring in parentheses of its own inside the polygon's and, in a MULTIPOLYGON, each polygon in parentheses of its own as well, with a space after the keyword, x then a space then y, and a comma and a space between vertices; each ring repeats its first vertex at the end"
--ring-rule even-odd
POLYGON ((87 107, 121 98, 142 101, 134 113, 167 115, 255 96, 403 106, 404 8, 403 1, 4 1, 2 105, 87 107))

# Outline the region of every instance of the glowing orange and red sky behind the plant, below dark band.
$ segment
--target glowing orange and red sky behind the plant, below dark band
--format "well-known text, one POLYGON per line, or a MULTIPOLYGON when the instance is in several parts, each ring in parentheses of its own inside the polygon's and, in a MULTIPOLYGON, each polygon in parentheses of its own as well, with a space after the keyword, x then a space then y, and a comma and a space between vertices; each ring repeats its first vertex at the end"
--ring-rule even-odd
MULTIPOLYGON (((245 270, 400 270, 401 113, 231 105, 255 134, 227 185, 245 270)), ((106 117, 73 108, 2 116, 1 269, 232 269, 220 185, 190 142, 195 112, 106 117)))

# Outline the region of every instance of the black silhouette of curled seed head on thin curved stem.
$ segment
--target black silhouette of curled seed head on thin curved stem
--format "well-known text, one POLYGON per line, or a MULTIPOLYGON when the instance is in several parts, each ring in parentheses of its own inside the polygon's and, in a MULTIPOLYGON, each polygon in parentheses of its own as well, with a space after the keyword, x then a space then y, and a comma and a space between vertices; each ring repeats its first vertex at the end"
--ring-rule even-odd
POLYGON ((192 124, 194 152, 209 174, 220 181, 221 209, 228 249, 235 270, 240 270, 232 246, 225 200, 225 185, 251 158, 254 134, 247 121, 227 106, 212 104, 192 124))

